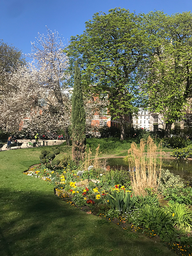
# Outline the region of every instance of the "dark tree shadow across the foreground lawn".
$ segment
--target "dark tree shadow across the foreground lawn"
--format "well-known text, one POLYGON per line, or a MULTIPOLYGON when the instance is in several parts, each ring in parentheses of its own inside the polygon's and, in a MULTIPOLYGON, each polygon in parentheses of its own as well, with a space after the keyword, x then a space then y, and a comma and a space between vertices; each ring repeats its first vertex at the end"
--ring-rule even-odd
POLYGON ((130 239, 115 224, 98 225, 99 217, 66 204, 53 191, 0 193, 1 256, 173 255, 152 240, 130 239))

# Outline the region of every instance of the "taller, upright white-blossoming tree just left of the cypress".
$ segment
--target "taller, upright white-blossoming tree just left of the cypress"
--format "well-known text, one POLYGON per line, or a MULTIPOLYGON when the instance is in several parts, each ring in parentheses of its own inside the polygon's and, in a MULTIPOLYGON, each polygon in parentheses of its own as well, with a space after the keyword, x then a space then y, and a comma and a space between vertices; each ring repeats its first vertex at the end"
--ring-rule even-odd
POLYGON ((36 43, 32 44, 32 52, 28 56, 33 58, 36 66, 36 77, 39 81, 39 94, 41 99, 45 99, 48 111, 43 111, 43 116, 47 121, 49 113, 49 124, 58 124, 66 134, 66 141, 69 145, 68 125, 70 117, 70 103, 63 91, 63 81, 68 79, 67 68, 68 58, 64 53, 65 46, 62 37, 58 32, 52 32, 47 28, 48 34, 45 36, 38 33, 36 43))

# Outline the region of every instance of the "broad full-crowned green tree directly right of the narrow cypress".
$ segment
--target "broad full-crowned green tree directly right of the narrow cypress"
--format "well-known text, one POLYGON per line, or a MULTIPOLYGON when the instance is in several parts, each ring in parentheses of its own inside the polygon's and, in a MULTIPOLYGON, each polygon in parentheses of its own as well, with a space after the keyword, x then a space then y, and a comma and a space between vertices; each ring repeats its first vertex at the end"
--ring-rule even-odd
POLYGON ((97 96, 108 95, 109 114, 120 122, 121 140, 126 137, 125 116, 138 110, 137 73, 147 41, 140 19, 121 8, 95 13, 84 33, 71 37, 67 49, 71 68, 74 60, 80 63, 83 86, 97 96))

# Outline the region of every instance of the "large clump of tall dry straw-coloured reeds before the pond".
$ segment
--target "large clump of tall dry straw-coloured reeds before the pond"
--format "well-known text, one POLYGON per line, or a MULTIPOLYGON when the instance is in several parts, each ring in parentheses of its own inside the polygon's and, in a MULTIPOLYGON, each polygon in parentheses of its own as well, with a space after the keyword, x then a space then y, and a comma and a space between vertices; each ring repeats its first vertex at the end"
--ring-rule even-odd
POLYGON ((148 195, 148 192, 157 193, 161 176, 162 150, 160 161, 157 161, 157 148, 155 142, 148 137, 147 154, 145 154, 145 142, 140 140, 140 148, 132 142, 128 150, 128 163, 132 188, 135 195, 148 195))

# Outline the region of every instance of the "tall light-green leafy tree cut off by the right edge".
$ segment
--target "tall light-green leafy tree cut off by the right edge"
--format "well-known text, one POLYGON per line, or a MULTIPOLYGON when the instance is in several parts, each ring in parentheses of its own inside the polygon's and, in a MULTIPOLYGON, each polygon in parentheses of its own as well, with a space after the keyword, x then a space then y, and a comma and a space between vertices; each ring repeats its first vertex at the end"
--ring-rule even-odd
POLYGON ((163 115, 165 137, 185 113, 191 92, 192 14, 149 12, 142 23, 149 39, 146 66, 149 110, 163 115))

